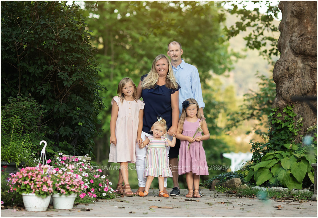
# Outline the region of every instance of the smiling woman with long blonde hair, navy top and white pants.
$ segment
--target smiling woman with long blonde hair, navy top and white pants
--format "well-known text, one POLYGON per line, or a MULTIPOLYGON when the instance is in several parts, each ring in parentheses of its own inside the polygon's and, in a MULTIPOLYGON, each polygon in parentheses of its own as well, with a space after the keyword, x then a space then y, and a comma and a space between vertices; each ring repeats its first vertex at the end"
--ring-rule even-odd
MULTIPOLYGON (((141 135, 143 141, 146 134, 151 134, 151 126, 157 121, 158 116, 167 122, 167 137, 176 135, 179 119, 179 89, 169 59, 164 54, 159 54, 153 61, 150 72, 140 78, 137 87, 137 94, 145 103, 141 135)), ((170 141, 171 139, 172 137, 169 138, 170 141)), ((139 191, 143 192, 146 187, 147 179, 143 177, 143 171, 147 148, 139 149, 139 145, 136 144, 135 150, 139 188, 134 194, 138 195, 139 191)), ((164 187, 164 193, 168 194, 167 178, 164 180, 164 187)))

